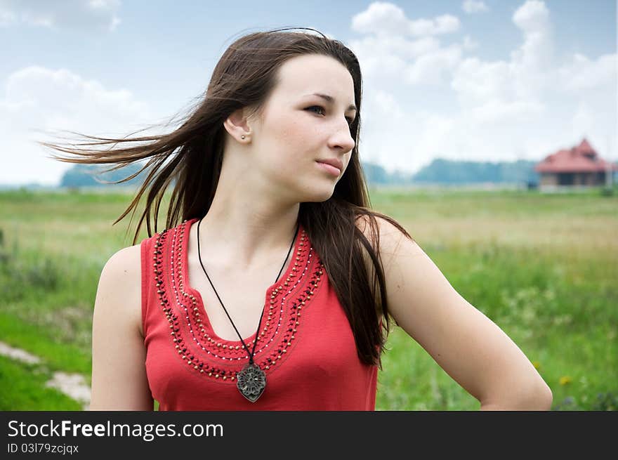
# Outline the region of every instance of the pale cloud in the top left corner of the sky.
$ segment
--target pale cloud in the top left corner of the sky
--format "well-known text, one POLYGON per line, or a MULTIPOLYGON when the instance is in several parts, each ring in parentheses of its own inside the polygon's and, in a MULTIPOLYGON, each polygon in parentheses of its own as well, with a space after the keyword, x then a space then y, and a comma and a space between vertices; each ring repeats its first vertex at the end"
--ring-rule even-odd
POLYGON ((20 23, 52 29, 114 30, 120 0, 0 0, 0 27, 20 23))

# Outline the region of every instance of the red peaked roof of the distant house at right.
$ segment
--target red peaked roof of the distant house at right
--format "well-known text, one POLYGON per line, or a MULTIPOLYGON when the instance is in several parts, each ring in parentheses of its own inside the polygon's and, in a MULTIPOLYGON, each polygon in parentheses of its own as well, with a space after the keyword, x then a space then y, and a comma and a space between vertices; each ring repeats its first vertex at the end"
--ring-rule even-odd
POLYGON ((537 173, 591 173, 607 169, 618 171, 618 164, 600 159, 586 139, 570 150, 558 150, 548 155, 534 166, 534 171, 537 173))

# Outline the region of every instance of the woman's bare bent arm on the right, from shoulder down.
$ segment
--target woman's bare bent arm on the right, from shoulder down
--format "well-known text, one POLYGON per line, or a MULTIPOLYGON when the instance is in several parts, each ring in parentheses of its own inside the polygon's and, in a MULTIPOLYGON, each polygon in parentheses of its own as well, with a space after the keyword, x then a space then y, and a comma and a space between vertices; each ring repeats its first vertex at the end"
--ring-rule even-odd
POLYGON ((418 244, 377 220, 397 324, 480 401, 481 410, 551 409, 551 390, 522 350, 455 291, 418 244))

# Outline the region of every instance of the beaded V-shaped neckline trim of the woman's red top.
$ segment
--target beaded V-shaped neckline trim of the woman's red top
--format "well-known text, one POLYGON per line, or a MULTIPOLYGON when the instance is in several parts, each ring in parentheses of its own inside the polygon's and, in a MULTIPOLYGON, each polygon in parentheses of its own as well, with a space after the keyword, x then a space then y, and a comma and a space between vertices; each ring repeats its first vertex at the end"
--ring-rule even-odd
MULTIPOLYGON (((249 360, 240 341, 225 341, 213 333, 199 291, 187 277, 186 247, 189 230, 197 218, 155 235, 153 266, 159 305, 169 322, 171 346, 188 369, 218 381, 235 381, 236 372, 249 360), (163 270, 163 266, 169 270, 163 270), (164 276, 164 272, 169 276, 164 276)), ((280 367, 294 348, 302 315, 323 284, 324 265, 311 247, 305 230, 298 230, 293 263, 266 292, 264 327, 244 339, 247 346, 258 340, 254 362, 267 374, 280 367)))

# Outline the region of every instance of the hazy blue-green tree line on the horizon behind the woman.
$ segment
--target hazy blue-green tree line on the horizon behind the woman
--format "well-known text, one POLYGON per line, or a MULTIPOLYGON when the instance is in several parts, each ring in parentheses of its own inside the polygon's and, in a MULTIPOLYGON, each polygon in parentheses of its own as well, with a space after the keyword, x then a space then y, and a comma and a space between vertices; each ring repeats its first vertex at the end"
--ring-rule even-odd
MULTIPOLYGON (((470 162, 449 159, 434 159, 414 174, 395 170, 386 171, 383 166, 372 162, 362 164, 365 177, 369 184, 379 185, 412 185, 412 184, 442 184, 459 185, 474 183, 521 183, 538 184, 539 175, 534 171, 537 162, 518 160, 516 162, 470 162)), ((60 187, 113 187, 116 182, 131 176, 140 169, 139 164, 129 164, 116 171, 104 173, 110 165, 76 164, 66 171, 60 180, 60 187)), ((139 185, 143 182, 147 171, 119 185, 139 185)))

